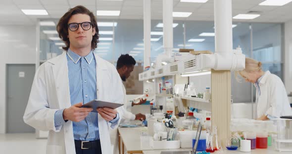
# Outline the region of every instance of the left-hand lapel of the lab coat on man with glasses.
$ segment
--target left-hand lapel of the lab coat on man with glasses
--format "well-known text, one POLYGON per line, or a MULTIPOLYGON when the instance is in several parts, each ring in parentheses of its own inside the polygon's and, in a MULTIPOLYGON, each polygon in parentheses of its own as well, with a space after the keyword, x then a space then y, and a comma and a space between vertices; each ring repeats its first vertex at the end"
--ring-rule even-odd
POLYGON ((64 109, 71 106, 70 90, 68 78, 67 52, 63 52, 57 61, 54 61, 52 66, 53 77, 56 86, 56 94, 59 102, 59 108, 64 109))

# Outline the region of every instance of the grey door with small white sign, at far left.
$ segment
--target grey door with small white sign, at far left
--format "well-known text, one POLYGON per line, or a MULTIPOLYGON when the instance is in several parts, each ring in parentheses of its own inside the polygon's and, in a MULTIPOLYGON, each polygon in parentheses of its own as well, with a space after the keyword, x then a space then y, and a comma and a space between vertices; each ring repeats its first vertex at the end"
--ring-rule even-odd
POLYGON ((6 65, 6 133, 35 132, 23 121, 34 76, 34 64, 6 65))

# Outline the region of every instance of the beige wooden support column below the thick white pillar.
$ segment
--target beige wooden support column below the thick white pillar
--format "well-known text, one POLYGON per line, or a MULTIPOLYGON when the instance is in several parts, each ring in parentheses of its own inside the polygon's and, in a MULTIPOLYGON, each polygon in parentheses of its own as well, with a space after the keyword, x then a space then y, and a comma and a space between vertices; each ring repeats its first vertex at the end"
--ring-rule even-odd
POLYGON ((230 132, 231 76, 230 71, 211 71, 212 127, 217 126, 221 146, 230 132))

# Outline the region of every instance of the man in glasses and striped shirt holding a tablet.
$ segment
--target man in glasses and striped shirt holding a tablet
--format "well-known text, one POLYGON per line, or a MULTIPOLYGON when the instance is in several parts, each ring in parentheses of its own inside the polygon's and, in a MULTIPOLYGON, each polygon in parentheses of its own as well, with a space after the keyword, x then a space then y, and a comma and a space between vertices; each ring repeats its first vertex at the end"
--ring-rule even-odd
POLYGON ((47 154, 112 154, 109 129, 123 112, 80 108, 94 99, 123 103, 123 84, 115 67, 98 57, 94 14, 76 6, 60 18, 57 31, 65 52, 37 70, 25 123, 49 131, 47 154))

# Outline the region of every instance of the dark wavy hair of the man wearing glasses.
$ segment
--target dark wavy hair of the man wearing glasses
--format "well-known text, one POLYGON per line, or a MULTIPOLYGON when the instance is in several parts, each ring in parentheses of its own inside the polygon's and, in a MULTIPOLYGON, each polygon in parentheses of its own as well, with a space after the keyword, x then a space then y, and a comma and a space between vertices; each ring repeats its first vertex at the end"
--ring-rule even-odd
POLYGON ((68 38, 68 21, 71 18, 71 16, 74 14, 87 14, 90 16, 92 28, 96 29, 96 34, 93 36, 92 41, 91 41, 91 49, 94 50, 97 47, 97 43, 99 42, 97 21, 94 14, 89 9, 87 9, 86 7, 82 5, 78 5, 74 8, 69 9, 69 11, 66 12, 58 22, 57 32, 59 34, 59 38, 63 40, 66 44, 66 46, 62 48, 66 51, 69 49, 70 41, 68 38))

